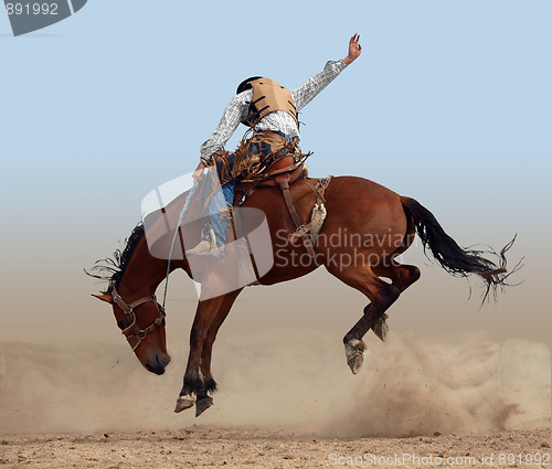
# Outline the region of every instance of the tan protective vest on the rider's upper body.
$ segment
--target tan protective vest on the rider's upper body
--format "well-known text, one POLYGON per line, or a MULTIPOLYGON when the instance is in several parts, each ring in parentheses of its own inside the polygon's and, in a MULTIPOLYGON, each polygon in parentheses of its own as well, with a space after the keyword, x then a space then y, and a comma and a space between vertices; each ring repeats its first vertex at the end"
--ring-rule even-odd
POLYGON ((251 82, 253 87, 253 100, 250 105, 250 114, 244 124, 255 127, 256 124, 267 114, 275 110, 283 110, 289 114, 297 127, 297 109, 295 108, 294 98, 289 89, 276 83, 270 78, 258 78, 251 82))

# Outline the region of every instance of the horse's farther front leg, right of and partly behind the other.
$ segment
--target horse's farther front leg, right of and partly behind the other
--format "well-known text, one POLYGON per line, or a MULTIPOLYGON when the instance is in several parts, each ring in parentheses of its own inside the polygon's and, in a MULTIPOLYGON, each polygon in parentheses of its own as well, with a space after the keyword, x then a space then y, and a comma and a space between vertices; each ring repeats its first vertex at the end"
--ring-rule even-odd
POLYGON ((222 326, 229 316, 235 299, 242 292, 243 288, 232 291, 224 296, 224 300, 213 319, 211 328, 209 329, 208 337, 203 343, 201 352, 201 374, 203 376, 203 388, 198 392, 198 399, 195 402, 195 417, 199 417, 203 412, 213 405, 213 398, 209 395, 216 391, 216 382, 211 374, 211 356, 213 351, 213 343, 216 339, 219 328, 222 326))

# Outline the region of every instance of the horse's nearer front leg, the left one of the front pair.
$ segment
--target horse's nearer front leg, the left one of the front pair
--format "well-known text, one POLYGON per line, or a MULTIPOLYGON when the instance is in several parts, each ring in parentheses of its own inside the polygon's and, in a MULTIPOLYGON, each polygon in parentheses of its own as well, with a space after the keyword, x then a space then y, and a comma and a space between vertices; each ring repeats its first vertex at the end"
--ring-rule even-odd
POLYGON ((224 296, 200 301, 190 332, 190 354, 184 372, 184 384, 177 401, 174 412, 182 412, 195 404, 195 396, 205 387, 201 373, 201 355, 209 330, 224 302, 224 296))

